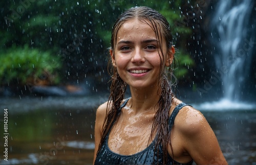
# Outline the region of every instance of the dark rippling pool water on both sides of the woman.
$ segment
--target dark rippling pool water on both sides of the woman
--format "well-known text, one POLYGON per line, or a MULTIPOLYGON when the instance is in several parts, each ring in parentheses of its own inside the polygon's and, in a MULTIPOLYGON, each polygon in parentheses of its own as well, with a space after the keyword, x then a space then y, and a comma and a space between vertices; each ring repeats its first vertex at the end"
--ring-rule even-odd
MULTIPOLYGON (((2 98, 8 108, 8 161, 0 141, 0 164, 92 164, 96 107, 107 96, 2 98)), ((256 109, 201 109, 229 164, 256 164, 256 109)))

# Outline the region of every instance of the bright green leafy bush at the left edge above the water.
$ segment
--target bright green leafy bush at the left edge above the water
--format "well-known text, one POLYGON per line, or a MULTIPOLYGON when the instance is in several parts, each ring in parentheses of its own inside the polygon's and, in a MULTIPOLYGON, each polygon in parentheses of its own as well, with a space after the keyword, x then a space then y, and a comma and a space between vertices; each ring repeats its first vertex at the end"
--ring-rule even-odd
POLYGON ((22 84, 31 80, 47 80, 53 84, 59 81, 55 73, 61 63, 50 52, 31 49, 28 45, 24 48, 13 46, 12 49, 0 53, 0 61, 1 84, 16 80, 22 84))

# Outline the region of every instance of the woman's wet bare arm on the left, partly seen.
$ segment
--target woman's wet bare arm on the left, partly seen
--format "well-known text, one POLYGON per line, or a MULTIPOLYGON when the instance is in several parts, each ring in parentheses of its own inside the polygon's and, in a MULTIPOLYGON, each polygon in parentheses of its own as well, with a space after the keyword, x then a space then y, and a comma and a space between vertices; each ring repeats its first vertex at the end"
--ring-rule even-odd
POLYGON ((106 115, 106 105, 108 102, 105 102, 104 104, 100 105, 96 111, 96 121, 95 121, 95 127, 94 127, 94 138, 95 138, 95 149, 94 149, 94 158, 93 158, 93 164, 96 159, 96 154, 99 148, 99 143, 101 139, 101 132, 102 132, 102 126, 106 115))

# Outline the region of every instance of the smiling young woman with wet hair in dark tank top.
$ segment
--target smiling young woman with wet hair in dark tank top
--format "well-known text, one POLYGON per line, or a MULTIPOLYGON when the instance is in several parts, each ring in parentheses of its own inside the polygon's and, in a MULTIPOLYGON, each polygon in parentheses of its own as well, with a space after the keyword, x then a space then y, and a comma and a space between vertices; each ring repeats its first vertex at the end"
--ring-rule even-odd
POLYGON ((111 38, 109 101, 99 106, 94 164, 226 164, 200 111, 175 98, 175 49, 167 20, 134 7, 116 20, 111 38), (127 85, 131 98, 124 99, 127 85))

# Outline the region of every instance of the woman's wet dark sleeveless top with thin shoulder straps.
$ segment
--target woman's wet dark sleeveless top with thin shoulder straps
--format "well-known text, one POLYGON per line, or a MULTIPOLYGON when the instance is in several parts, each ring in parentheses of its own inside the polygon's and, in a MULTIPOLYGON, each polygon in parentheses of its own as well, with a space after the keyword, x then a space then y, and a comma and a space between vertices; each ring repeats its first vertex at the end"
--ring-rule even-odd
MULTIPOLYGON (((125 100, 125 102, 121 105, 119 111, 121 111, 121 108, 125 106, 125 104, 129 99, 125 100)), ((178 114, 179 110, 184 106, 187 106, 187 104, 180 103, 175 107, 174 111, 170 115, 168 119, 168 126, 170 130, 174 125, 174 119, 176 115, 178 114)), ((136 154, 120 155, 110 150, 108 146, 109 134, 110 134, 110 131, 108 135, 106 135, 103 141, 102 147, 99 149, 99 152, 97 153, 94 164, 153 164, 153 163, 163 164, 163 146, 159 145, 158 151, 155 150, 156 138, 146 149, 136 154), (155 155, 154 155, 154 152, 155 152, 155 155), (158 152, 158 156, 157 156, 157 152, 158 152)), ((193 163, 193 160, 185 164, 192 164, 192 163, 193 163)), ((173 160, 173 158, 170 157, 170 155, 168 154, 166 164, 183 164, 183 163, 179 163, 173 160)))

